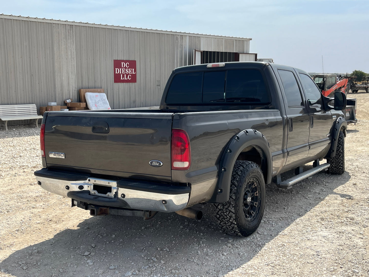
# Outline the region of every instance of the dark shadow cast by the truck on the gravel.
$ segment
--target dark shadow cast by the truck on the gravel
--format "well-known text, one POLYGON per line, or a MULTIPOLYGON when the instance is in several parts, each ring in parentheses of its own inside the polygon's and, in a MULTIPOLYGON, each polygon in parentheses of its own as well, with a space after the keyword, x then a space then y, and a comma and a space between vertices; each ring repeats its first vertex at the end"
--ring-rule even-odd
MULTIPOLYGON (((286 172, 282 179, 292 176, 286 172)), ((249 237, 220 232, 210 204, 196 206, 204 212, 199 222, 175 213, 159 213, 149 221, 98 216, 80 222, 79 229, 63 230, 15 251, 0 262, 0 269, 12 276, 124 276, 132 270, 138 276, 226 274, 250 261, 326 196, 351 198, 334 192, 349 179, 348 172, 339 176, 321 172, 288 191, 268 185, 263 221, 249 237)), ((73 209, 71 217, 79 211, 73 209)))

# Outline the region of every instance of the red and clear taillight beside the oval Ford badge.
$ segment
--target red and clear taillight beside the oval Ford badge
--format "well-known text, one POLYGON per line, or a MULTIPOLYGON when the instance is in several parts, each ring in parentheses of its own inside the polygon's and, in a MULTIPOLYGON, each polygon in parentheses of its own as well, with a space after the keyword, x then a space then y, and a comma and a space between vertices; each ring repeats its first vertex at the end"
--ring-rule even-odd
POLYGON ((187 170, 191 166, 190 139, 186 131, 172 130, 172 169, 187 170))

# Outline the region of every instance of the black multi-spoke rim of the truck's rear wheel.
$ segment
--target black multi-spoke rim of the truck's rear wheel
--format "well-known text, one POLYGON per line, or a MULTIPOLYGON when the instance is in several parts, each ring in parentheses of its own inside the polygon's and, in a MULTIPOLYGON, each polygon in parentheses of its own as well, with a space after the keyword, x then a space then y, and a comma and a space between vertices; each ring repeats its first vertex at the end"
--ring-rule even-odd
POLYGON ((246 221, 252 222, 258 216, 261 208, 260 182, 256 178, 250 178, 244 191, 244 214, 246 221))

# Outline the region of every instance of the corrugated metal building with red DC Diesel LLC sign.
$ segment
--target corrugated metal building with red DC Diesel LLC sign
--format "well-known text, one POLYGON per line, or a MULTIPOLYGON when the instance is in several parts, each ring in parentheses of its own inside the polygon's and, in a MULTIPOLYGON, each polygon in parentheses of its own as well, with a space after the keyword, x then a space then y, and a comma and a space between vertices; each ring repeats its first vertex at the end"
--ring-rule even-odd
POLYGON ((81 88, 103 88, 112 109, 159 105, 174 68, 255 61, 250 40, 1 14, 0 105, 78 102, 81 88))

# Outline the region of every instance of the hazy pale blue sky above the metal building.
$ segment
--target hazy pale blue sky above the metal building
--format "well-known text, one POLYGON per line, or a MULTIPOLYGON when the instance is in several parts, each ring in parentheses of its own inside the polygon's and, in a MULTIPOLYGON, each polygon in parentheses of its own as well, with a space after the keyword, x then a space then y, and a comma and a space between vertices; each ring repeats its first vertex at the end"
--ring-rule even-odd
POLYGON ((4 1, 0 13, 252 38, 250 52, 308 72, 369 73, 369 0, 4 1))

